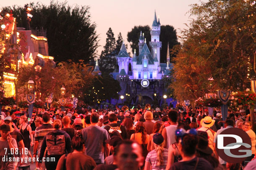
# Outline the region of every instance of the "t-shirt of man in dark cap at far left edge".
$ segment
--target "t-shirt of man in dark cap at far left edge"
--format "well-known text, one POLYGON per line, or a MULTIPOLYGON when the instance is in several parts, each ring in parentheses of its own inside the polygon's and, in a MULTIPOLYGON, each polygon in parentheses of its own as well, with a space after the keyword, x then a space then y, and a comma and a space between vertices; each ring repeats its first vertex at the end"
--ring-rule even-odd
MULTIPOLYGON (((15 139, 12 138, 11 142, 15 148, 18 148, 17 142, 15 139)), ((15 149, 14 149, 14 152, 15 152, 15 149)), ((11 155, 11 152, 10 152, 8 141, 0 141, 0 170, 8 170, 12 168, 14 169, 14 162, 6 160, 8 157, 13 157, 13 155, 11 155), (7 150, 5 148, 7 148, 7 150)))

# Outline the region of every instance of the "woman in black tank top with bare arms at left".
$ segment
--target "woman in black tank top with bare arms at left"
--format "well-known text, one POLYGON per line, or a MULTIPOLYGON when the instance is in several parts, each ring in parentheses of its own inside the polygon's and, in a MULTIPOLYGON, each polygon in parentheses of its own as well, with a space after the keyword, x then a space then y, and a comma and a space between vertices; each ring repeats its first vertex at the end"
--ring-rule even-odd
POLYGON ((32 129, 29 124, 27 124, 28 118, 23 115, 19 119, 19 122, 21 124, 20 132, 22 136, 24 137, 23 142, 24 146, 30 150, 30 146, 33 146, 33 134, 32 134, 32 129), (30 137, 30 138, 29 138, 30 137))

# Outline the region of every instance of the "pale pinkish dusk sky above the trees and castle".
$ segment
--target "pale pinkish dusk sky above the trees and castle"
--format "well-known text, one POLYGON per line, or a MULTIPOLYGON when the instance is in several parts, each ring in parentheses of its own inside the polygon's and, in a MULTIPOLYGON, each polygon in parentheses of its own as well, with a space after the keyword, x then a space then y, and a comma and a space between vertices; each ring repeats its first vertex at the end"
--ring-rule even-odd
MULTIPOLYGON (((0 8, 13 5, 25 5, 30 2, 40 2, 49 5, 50 0, 1 0, 0 8)), ((64 0, 58 0, 64 2, 64 0)), ((206 1, 206 0, 203 0, 206 1)), ((118 39, 121 33, 125 43, 127 33, 134 26, 152 25, 154 10, 159 16, 161 25, 172 25, 180 36, 180 30, 186 28, 189 23, 189 10, 191 4, 199 3, 200 0, 67 0, 68 4, 89 5, 91 21, 96 23, 99 45, 97 53, 100 54, 106 42, 107 30, 111 27, 118 39)), ((14 16, 15 17, 15 16, 14 16)), ((161 41, 161 40, 160 40, 161 41)), ((128 51, 131 51, 128 45, 128 51)))

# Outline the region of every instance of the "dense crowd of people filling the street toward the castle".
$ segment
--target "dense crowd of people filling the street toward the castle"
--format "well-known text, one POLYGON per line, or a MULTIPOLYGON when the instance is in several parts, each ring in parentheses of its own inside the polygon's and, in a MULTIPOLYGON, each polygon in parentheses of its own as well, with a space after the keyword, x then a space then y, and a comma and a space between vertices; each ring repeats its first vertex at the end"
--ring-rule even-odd
POLYGON ((155 108, 37 109, 0 115, 0 170, 256 170, 256 136, 246 110, 194 112, 155 108), (218 134, 231 127, 251 139, 252 155, 225 162, 218 134), (32 153, 31 153, 32 152, 32 153), (27 161, 26 161, 27 160, 27 161))

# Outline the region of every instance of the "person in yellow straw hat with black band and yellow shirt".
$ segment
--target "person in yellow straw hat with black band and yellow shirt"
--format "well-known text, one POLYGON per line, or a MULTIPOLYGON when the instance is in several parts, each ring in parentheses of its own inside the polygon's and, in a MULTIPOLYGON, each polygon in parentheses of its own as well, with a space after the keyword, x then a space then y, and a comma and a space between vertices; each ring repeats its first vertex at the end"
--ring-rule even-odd
POLYGON ((214 144, 213 140, 215 137, 216 132, 214 132, 210 127, 212 127, 215 123, 215 120, 212 119, 210 116, 204 117, 204 119, 201 120, 201 127, 197 130, 207 132, 208 134, 208 140, 209 140, 209 147, 214 150, 214 144))

